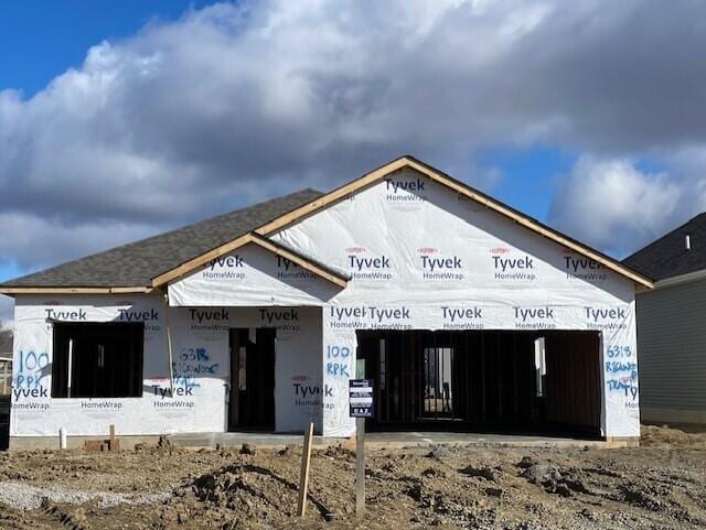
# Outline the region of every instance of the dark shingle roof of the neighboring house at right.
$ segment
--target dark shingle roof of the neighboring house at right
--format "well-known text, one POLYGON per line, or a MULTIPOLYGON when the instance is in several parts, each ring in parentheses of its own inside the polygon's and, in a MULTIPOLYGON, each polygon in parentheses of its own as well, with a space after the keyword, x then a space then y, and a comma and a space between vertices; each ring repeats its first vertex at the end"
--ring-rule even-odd
POLYGON ((706 270, 706 213, 638 250, 623 263, 656 281, 706 270), (686 236, 691 240, 688 250, 686 236))

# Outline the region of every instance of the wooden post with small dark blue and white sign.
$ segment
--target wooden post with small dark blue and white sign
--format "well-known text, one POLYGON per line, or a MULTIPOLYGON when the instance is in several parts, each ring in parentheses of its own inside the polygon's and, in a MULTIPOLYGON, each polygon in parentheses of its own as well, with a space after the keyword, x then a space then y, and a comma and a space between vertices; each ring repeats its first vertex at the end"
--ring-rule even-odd
POLYGON ((373 380, 349 381, 350 417, 355 418, 355 517, 365 516, 365 419, 373 417, 373 380))

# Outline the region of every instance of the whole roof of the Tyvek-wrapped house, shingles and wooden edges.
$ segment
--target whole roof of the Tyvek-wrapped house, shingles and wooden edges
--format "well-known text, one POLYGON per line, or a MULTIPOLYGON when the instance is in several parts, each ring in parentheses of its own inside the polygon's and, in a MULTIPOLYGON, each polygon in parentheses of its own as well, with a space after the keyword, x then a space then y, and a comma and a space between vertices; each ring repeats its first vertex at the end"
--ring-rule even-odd
MULTIPOLYGON (((29 288, 38 286, 56 288, 57 291, 63 292, 81 292, 77 288, 105 288, 106 292, 140 292, 136 288, 141 291, 158 288, 188 274, 212 259, 253 242, 249 236, 266 238, 403 169, 417 171, 531 231, 601 263, 607 269, 638 284, 652 286, 649 279, 598 250, 549 228, 413 156, 402 156, 325 195, 312 190, 304 190, 279 199, 260 203, 250 208, 214 217, 162 236, 6 282, 0 284, 0 293, 30 292, 29 288)), ((292 250, 289 251, 292 252, 292 250)), ((303 256, 300 256, 300 259, 322 267, 303 256)), ((340 274, 339 279, 342 279, 340 274)))

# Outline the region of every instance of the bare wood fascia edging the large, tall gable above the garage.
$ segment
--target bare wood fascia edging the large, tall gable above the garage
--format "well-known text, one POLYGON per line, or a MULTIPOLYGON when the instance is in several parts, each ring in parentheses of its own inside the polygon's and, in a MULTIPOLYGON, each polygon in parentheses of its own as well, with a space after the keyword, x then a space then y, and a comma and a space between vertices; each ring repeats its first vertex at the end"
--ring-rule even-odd
POLYGON ((473 201, 475 201, 479 204, 482 204, 483 206, 512 219, 513 221, 517 223, 518 225, 524 226, 525 228, 528 228, 530 230, 546 237, 547 239, 550 239, 559 245, 561 245, 565 248, 568 248, 579 255, 586 256, 587 258, 590 258, 591 260, 596 261, 597 263, 600 263, 602 266, 605 266, 606 268, 612 270, 613 272, 619 273, 620 275, 623 275, 628 279, 630 279, 631 281, 635 282, 639 285, 642 285, 644 288, 648 289, 652 289, 653 283, 648 280, 646 278, 641 277, 640 274, 634 273, 633 271, 631 271, 630 269, 621 266, 620 263, 617 263, 599 253, 597 253, 596 251, 591 250, 590 248, 585 247, 584 245, 580 245, 576 241, 573 241, 564 236, 561 236, 560 234, 557 234, 554 230, 550 230, 542 225, 536 224, 535 221, 533 221, 532 219, 517 214, 516 212, 514 212, 513 209, 504 206, 501 203, 498 203, 496 201, 491 199, 490 197, 486 197, 484 195, 478 194, 475 192, 473 192, 473 190, 469 188, 468 186, 466 186, 464 184, 458 183, 454 180, 431 170, 430 167, 426 166, 425 164, 420 164, 419 162, 417 162, 416 160, 409 159, 407 156, 403 156, 400 159, 397 159, 393 162, 391 162, 387 165, 384 165, 382 167, 378 167, 377 170, 367 173, 365 175, 363 175, 361 179, 353 181, 344 186, 339 187, 338 190, 334 190, 333 192, 325 194, 324 196, 317 198, 314 201, 312 201, 311 203, 308 203, 303 206, 300 206, 299 208, 295 209, 293 212, 290 212, 289 214, 286 214, 281 217, 278 217, 277 219, 271 220, 270 223, 261 226, 260 228, 258 228, 256 230, 256 234, 259 234, 260 236, 269 236, 270 234, 280 230, 296 221, 298 221, 299 219, 311 215, 320 209, 325 208, 327 206, 329 206, 332 203, 335 203, 366 186, 370 186, 374 183, 376 183, 377 181, 384 179, 386 175, 402 170, 404 167, 411 167, 413 170, 421 173, 422 175, 428 176, 429 179, 431 179, 432 181, 453 190, 454 192, 469 197, 473 201))

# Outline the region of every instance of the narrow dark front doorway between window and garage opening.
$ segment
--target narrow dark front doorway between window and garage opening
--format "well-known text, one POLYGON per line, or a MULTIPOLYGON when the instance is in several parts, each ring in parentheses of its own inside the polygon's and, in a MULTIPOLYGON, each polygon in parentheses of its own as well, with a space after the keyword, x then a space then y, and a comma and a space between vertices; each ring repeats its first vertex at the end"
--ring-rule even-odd
POLYGON ((231 329, 228 431, 275 430, 275 343, 269 327, 231 329))

